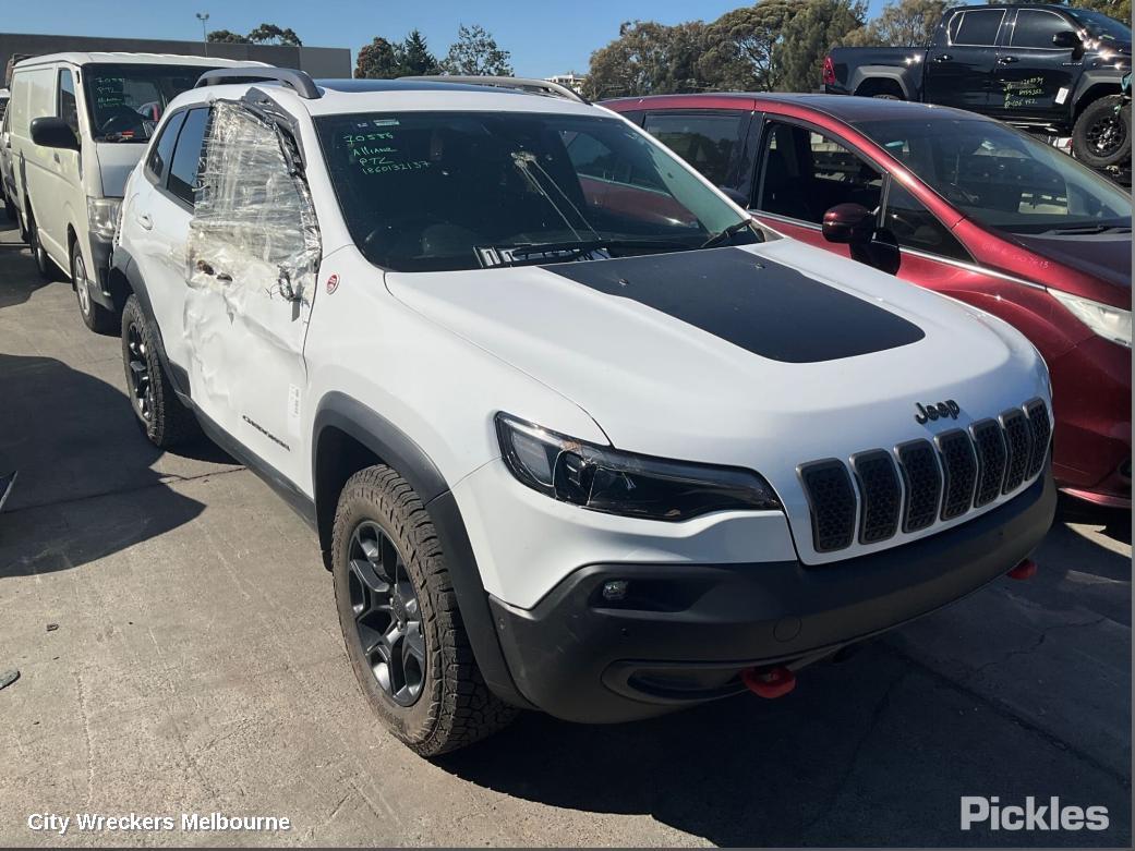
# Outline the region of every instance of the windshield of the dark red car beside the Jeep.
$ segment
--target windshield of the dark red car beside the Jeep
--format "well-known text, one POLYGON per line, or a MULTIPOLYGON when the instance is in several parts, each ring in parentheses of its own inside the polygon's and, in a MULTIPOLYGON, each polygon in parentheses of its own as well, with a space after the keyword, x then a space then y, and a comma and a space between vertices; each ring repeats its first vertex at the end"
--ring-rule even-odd
POLYGON ((1010 234, 1130 227, 1132 200, 1057 149, 997 121, 856 125, 976 221, 1010 234))

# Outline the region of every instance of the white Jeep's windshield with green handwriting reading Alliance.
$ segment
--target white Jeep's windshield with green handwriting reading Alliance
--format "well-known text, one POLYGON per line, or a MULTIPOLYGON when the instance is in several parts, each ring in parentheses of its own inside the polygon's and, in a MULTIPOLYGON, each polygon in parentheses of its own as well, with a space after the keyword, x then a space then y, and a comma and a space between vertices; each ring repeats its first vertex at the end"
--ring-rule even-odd
POLYGON ((384 112, 316 125, 351 235, 382 268, 477 269, 760 238, 617 118, 384 112))

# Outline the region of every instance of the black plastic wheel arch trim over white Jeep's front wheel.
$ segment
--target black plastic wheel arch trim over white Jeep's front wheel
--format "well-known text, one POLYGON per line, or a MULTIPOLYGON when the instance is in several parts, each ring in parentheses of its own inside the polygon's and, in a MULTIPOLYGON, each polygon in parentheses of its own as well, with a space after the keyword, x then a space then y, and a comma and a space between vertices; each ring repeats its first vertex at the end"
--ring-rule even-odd
MULTIPOLYGON (((330 556, 330 523, 338 503, 338 491, 329 485, 338 479, 320 470, 320 444, 328 429, 337 429, 369 449, 394 469, 414 489, 426 506, 445 553, 461 620, 486 685, 502 700, 523 709, 533 708, 513 682, 489 608, 488 592, 481 581, 477 558, 461 509, 448 482, 426 452, 397 426, 346 394, 333 390, 316 411, 312 427, 312 482, 320 546, 330 556)), ((356 472, 356 471, 355 471, 356 472)))

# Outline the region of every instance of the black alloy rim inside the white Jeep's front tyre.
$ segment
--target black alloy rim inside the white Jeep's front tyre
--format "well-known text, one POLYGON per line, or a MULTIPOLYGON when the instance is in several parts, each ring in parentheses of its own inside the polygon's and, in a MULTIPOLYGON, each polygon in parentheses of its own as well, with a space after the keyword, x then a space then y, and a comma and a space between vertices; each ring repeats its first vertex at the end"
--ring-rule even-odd
POLYGON ((351 533, 347 578, 355 640, 386 697, 413 706, 426 682, 421 609, 405 562, 371 521, 351 533))

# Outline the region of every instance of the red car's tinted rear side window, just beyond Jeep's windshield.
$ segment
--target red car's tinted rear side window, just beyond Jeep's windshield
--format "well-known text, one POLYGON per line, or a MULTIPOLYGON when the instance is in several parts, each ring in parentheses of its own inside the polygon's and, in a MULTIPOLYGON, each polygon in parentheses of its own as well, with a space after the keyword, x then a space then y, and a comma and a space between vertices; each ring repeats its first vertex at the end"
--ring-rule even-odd
POLYGON ((714 186, 745 194, 753 180, 750 110, 647 112, 644 129, 700 171, 714 186))

